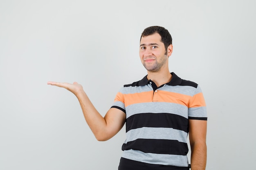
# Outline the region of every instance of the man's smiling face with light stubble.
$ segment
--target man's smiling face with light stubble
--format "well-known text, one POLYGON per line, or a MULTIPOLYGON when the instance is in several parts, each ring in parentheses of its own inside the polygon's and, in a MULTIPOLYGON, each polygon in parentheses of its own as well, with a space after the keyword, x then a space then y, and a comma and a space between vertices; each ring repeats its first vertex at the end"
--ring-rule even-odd
POLYGON ((139 57, 144 67, 150 72, 159 71, 168 64, 168 55, 165 54, 164 43, 158 33, 141 37, 139 57))

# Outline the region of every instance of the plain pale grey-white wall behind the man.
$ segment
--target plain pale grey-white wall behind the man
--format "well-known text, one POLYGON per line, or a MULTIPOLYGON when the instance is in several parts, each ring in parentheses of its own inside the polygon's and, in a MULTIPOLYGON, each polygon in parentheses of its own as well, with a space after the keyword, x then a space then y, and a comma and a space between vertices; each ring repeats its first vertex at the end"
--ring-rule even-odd
POLYGON ((207 170, 254 170, 254 0, 0 0, 0 170, 117 170, 124 128, 99 142, 76 97, 102 115, 124 84, 146 75, 139 38, 173 37, 169 67, 200 84, 207 103, 207 170))

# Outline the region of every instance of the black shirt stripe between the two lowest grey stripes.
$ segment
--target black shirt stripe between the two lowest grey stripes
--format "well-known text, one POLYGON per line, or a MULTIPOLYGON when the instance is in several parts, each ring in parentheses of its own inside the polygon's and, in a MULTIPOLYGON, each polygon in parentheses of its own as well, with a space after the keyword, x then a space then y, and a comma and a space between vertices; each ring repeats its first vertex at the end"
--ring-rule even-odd
POLYGON ((140 150, 145 153, 187 155, 188 145, 177 140, 167 139, 136 139, 123 144, 122 150, 140 150))

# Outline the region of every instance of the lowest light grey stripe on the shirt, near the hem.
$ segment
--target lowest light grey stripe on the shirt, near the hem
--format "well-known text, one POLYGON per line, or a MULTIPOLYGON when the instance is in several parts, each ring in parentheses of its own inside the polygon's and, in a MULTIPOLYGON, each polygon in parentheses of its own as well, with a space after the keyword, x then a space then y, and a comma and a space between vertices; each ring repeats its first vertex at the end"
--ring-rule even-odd
POLYGON ((125 150, 122 155, 123 158, 140 161, 145 163, 171 165, 171 166, 189 166, 186 155, 168 155, 168 154, 154 154, 144 153, 139 150, 125 150))

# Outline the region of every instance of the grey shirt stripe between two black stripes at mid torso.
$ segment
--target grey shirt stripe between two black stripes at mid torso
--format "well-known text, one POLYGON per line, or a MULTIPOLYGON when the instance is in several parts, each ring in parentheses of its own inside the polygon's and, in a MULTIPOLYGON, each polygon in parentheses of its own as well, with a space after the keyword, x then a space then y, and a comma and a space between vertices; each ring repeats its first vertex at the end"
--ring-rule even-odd
POLYGON ((187 142, 188 133, 173 128, 137 128, 126 132, 127 139, 124 144, 136 139, 168 139, 187 142))

